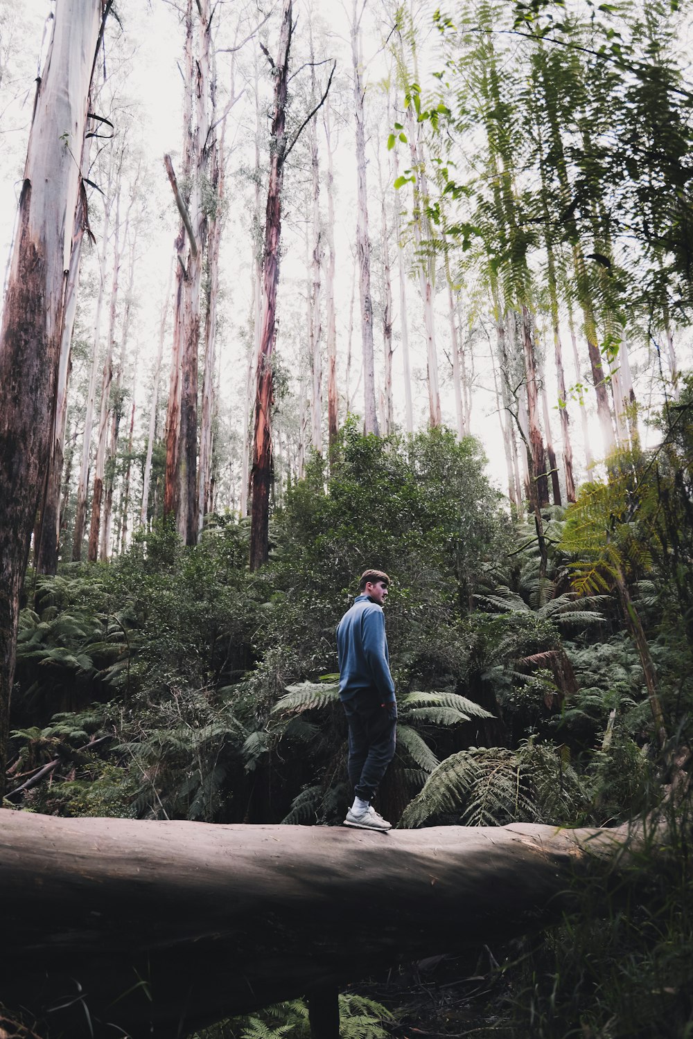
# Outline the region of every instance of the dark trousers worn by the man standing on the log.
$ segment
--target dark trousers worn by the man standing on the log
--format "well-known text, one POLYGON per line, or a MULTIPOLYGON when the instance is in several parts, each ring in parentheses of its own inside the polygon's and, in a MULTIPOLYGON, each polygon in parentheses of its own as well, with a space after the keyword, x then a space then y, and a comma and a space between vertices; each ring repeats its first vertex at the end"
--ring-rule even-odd
POLYGON ((356 797, 370 801, 395 756, 397 704, 382 707, 379 693, 370 689, 342 703, 349 724, 349 780, 356 797))

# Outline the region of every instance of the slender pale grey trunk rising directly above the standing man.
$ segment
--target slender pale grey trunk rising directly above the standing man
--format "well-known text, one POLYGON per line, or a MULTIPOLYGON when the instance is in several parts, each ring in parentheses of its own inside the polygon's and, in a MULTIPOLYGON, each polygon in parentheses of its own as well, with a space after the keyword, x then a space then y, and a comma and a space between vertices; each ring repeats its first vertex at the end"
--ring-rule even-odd
MULTIPOLYGON (((362 7, 363 14, 363 7, 362 7)), ((358 254, 358 290, 361 296, 361 338, 364 362, 364 428, 379 434, 375 404, 375 362, 373 348, 373 301, 371 298, 371 242, 368 237, 368 191, 366 187, 366 129, 364 126, 364 87, 361 81, 361 16, 356 0, 351 14, 351 60, 353 64, 353 101, 356 118, 356 178, 358 188, 356 251, 358 254)))

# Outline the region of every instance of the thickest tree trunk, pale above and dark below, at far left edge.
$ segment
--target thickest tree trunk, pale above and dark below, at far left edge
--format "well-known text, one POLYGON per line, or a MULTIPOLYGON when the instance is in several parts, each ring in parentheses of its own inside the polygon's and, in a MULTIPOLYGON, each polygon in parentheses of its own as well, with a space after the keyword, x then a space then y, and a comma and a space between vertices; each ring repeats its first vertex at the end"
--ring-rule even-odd
POLYGON ((0 795, 20 590, 49 463, 65 271, 103 0, 62 0, 34 105, 0 327, 0 795), (57 131, 59 128, 59 132, 57 131))

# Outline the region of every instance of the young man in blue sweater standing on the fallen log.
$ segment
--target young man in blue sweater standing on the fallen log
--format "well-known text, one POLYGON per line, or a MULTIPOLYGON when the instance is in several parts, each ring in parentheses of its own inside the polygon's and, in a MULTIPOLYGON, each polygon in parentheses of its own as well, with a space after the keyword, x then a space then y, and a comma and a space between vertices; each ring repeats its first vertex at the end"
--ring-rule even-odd
POLYGON ((387 574, 365 570, 358 595, 337 628, 340 699, 349 724, 348 769, 355 795, 344 825, 364 830, 392 829, 371 806, 395 755, 397 702, 382 613, 389 590, 387 574))

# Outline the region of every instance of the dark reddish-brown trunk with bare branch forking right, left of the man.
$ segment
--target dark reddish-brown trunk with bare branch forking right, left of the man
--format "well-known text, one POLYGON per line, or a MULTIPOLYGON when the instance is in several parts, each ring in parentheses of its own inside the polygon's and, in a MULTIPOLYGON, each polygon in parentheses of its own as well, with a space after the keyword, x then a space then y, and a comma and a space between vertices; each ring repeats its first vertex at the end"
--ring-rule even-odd
POLYGON ((260 353, 252 438, 252 502, 250 517, 250 569, 257 570, 269 555, 269 491, 272 481, 272 353, 275 337, 276 290, 279 284, 279 239, 282 234, 282 186, 284 156, 287 150, 286 107, 291 50, 292 0, 284 0, 279 49, 274 74, 274 110, 272 115, 272 150, 265 213, 265 248, 263 254, 263 300, 260 330, 260 353))

